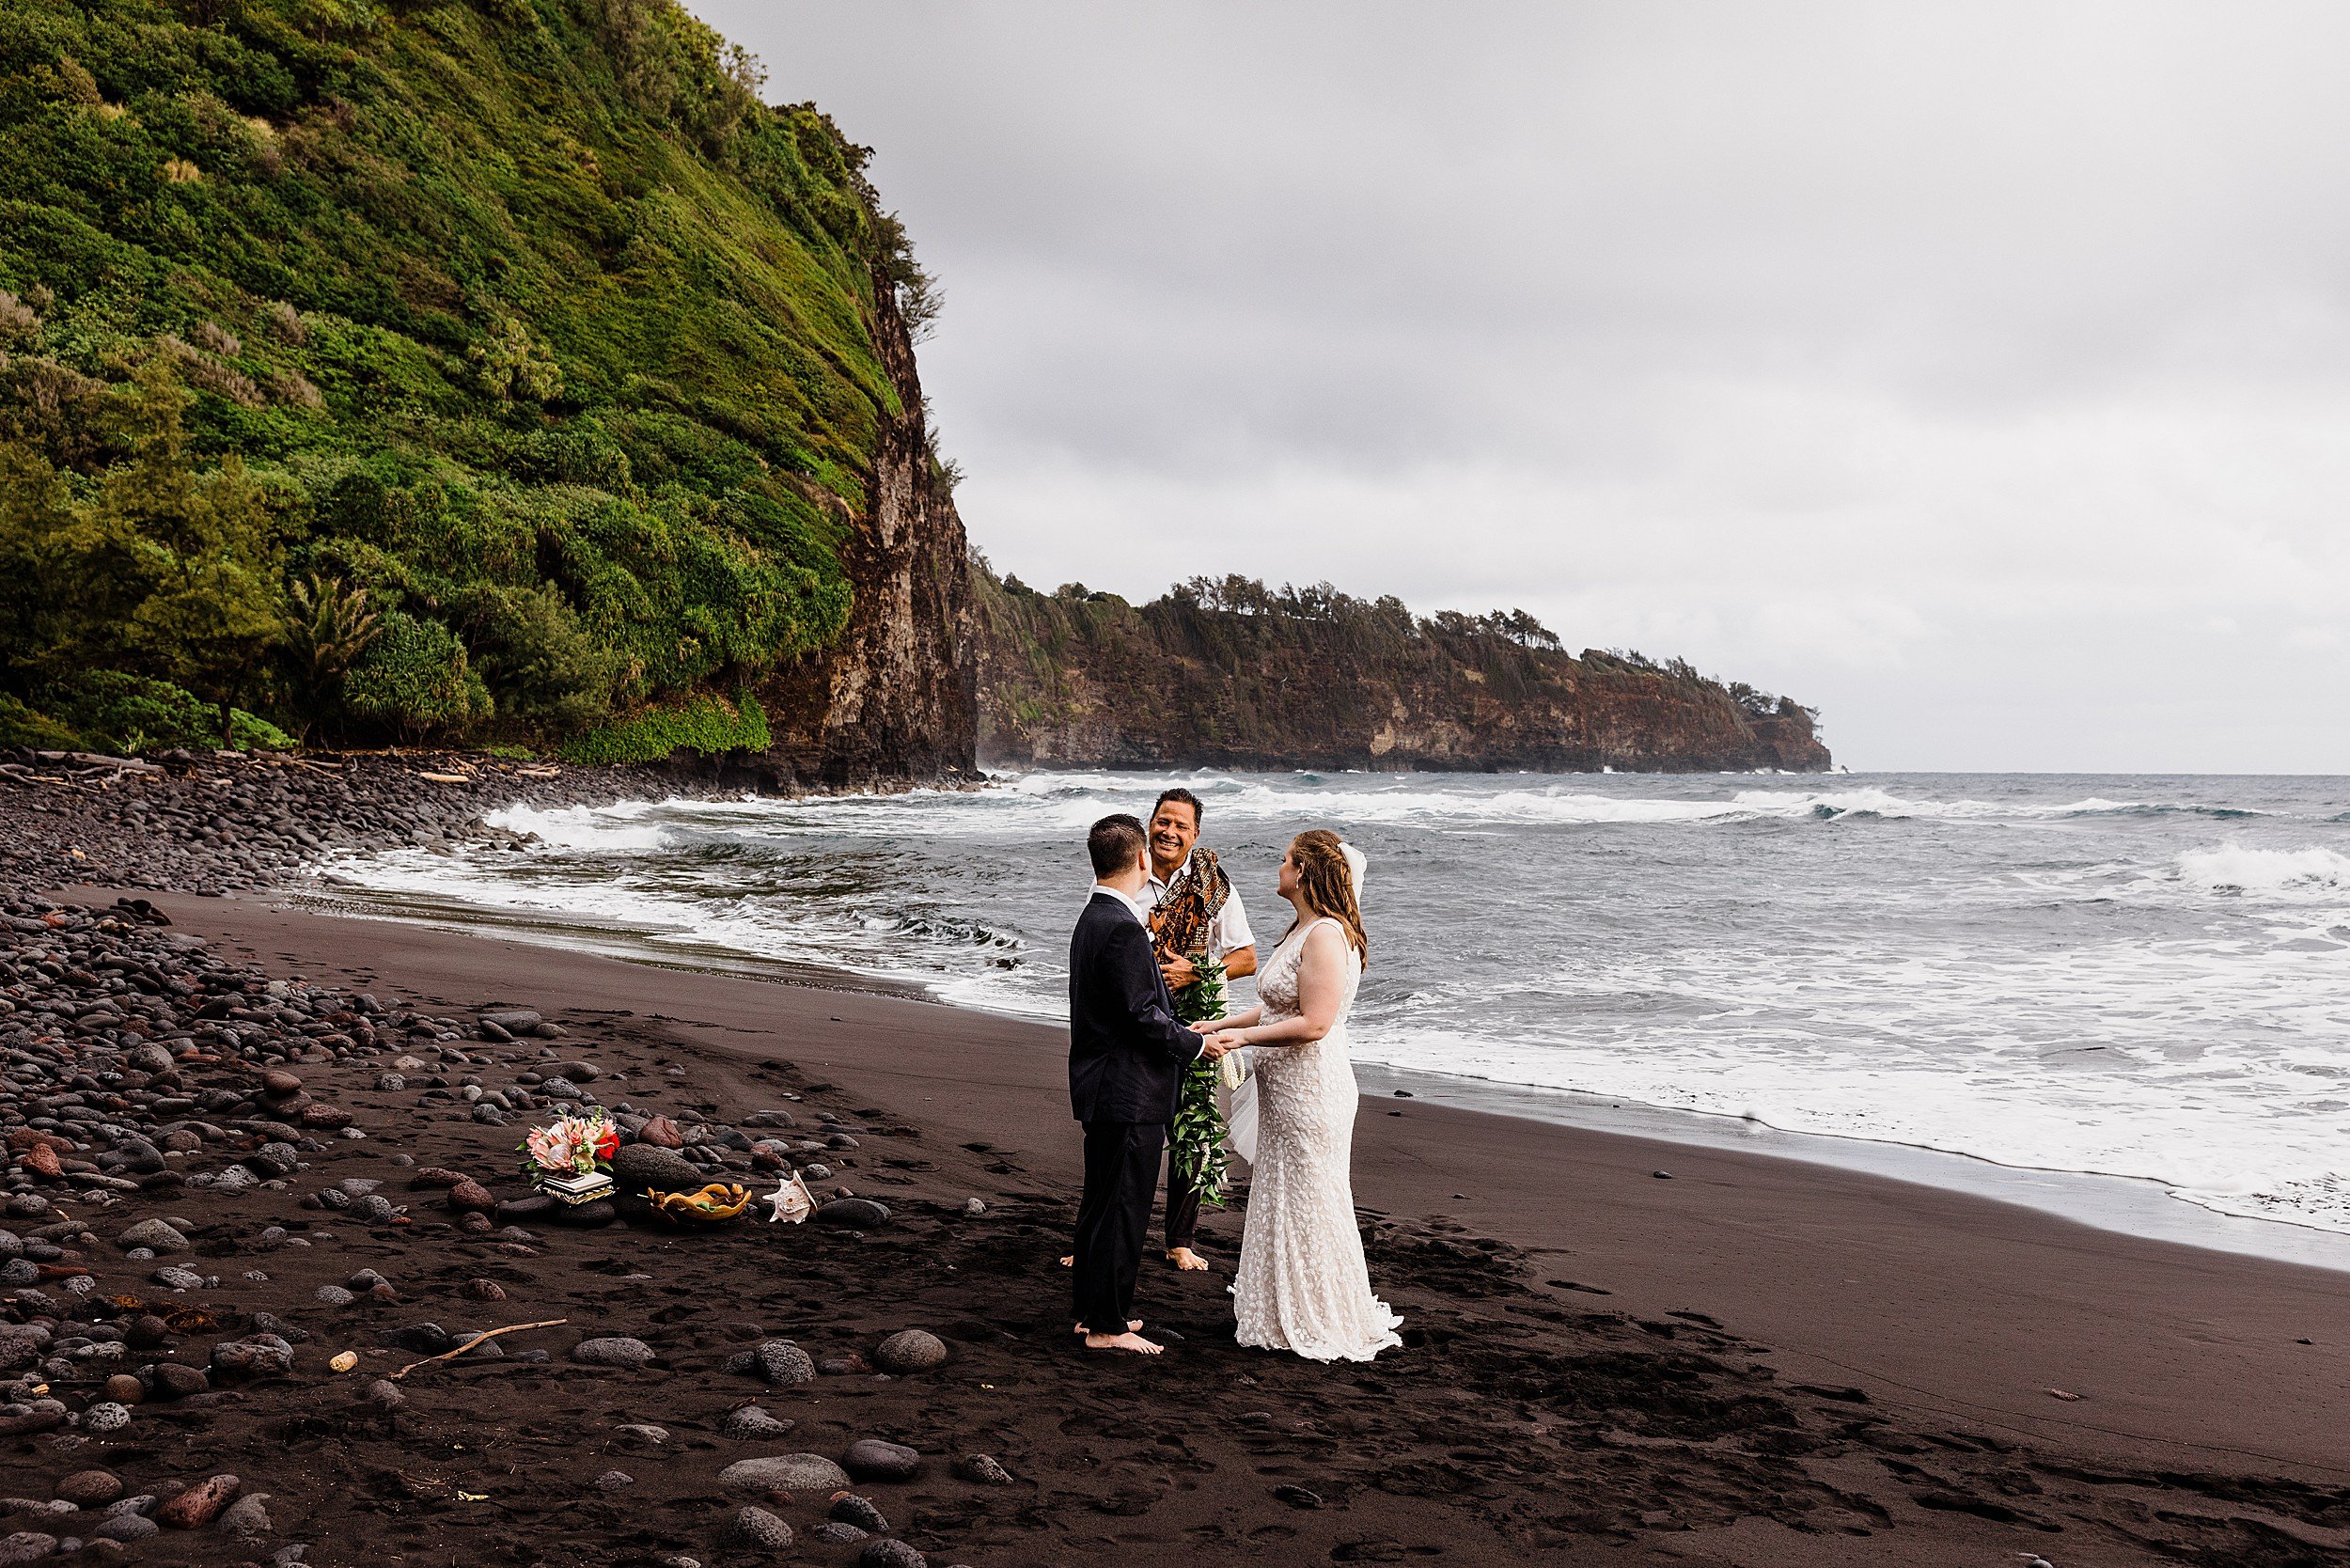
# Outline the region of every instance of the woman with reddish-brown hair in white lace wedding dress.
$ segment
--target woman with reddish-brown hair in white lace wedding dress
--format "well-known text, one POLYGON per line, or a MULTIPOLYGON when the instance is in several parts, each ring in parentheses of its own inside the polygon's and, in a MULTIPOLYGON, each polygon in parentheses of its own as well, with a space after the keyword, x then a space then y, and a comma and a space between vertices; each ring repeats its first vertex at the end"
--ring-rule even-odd
POLYGON ((1370 1361, 1403 1345, 1401 1316, 1370 1293, 1354 1220, 1354 1063, 1347 1013, 1370 943, 1356 889, 1363 853, 1335 832, 1302 832, 1281 858, 1297 910, 1257 976, 1262 1006, 1222 1018, 1215 1039, 1253 1046, 1257 1150, 1234 1293, 1241 1345, 1309 1361, 1370 1361))

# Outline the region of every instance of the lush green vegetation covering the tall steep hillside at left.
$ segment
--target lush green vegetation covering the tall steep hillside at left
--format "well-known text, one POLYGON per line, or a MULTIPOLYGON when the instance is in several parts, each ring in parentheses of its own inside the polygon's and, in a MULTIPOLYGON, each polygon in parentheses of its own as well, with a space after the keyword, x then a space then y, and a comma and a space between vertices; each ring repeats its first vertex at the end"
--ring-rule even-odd
POLYGON ((830 644, 926 306, 862 162, 672 0, 0 7, 0 722, 559 743, 830 644))

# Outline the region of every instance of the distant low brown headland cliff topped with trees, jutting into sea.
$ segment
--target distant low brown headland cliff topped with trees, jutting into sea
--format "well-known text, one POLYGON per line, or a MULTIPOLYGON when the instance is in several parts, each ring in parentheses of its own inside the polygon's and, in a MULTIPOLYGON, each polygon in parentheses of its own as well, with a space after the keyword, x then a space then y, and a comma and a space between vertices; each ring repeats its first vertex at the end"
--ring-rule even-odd
POLYGON ((987 764, 1828 769, 1810 710, 1687 665, 1574 658, 1394 602, 1236 614, 973 583, 987 764))

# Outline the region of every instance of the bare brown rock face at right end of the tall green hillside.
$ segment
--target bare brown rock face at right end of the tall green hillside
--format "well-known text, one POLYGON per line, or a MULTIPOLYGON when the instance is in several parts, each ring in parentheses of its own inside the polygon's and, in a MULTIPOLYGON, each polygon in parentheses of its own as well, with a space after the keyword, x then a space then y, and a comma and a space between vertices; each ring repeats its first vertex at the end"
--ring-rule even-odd
POLYGON ((914 343, 893 292, 874 294, 874 348, 900 411, 881 423, 862 515, 811 487, 832 503, 853 602, 832 646, 759 686, 776 745, 750 773, 773 790, 938 783, 978 769, 971 550, 924 428, 914 343))

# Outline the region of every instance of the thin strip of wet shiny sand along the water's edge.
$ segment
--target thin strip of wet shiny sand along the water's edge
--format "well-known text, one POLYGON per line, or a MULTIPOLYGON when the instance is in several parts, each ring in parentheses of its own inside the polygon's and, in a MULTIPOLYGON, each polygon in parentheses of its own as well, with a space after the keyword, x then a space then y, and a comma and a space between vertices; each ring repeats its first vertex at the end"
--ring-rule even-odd
MULTIPOLYGON (((855 969, 797 959, 771 959, 728 950, 717 943, 677 943, 670 947, 667 943, 653 943, 642 929, 620 924, 559 924, 555 919, 510 910, 468 910, 465 914, 392 910, 388 905, 369 905, 367 900, 338 896, 336 891, 322 886, 315 877, 306 886, 284 886, 256 898, 275 898, 289 907, 329 917, 381 919, 416 924, 435 931, 484 931, 557 950, 580 947, 623 964, 646 964, 686 973, 726 973, 771 980, 778 985, 806 985, 815 990, 909 997, 959 1013, 1058 1027, 1058 1020, 1041 1013, 1020 1013, 1010 1009, 956 1001, 952 997, 940 997, 916 980, 872 976, 855 969)), ((1936 1150, 1922 1143, 1805 1133, 1718 1112, 1614 1100, 1607 1095, 1591 1095, 1574 1088, 1551 1088, 1544 1084, 1511 1084, 1504 1079, 1389 1067, 1372 1060, 1358 1060, 1356 1074, 1365 1084, 1365 1103, 1375 1095, 1391 1095, 1391 1091, 1405 1088, 1415 1098, 1478 1114, 1518 1117, 1596 1133, 1652 1138, 1668 1145, 1737 1150, 1762 1159, 1819 1164, 1943 1192, 1962 1192, 2000 1204, 2016 1204, 2021 1208, 2033 1208, 2037 1213, 2049 1213, 2061 1220, 2073 1220, 2077 1225, 2124 1237, 2350 1272, 2350 1234, 2345 1232, 2331 1232, 2317 1225, 2301 1225, 2282 1218, 2237 1215, 2218 1208, 2204 1208, 2202 1204, 2171 1197, 2167 1185, 2150 1175, 2113 1175, 2103 1171, 2068 1171, 2056 1166, 2009 1166, 1979 1154, 1936 1150)))

